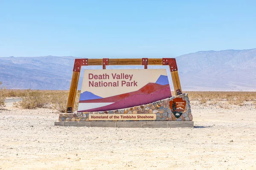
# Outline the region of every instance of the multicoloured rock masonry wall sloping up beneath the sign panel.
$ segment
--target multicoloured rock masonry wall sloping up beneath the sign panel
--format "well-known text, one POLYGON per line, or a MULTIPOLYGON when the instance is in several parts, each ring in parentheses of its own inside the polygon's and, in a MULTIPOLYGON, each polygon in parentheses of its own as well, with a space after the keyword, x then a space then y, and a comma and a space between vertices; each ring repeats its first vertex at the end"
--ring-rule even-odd
MULTIPOLYGON (((163 99, 157 102, 149 103, 146 105, 140 105, 140 106, 135 106, 132 108, 125 108, 125 109, 119 109, 119 110, 114 110, 114 111, 100 111, 100 112, 81 112, 81 113, 60 113, 59 115, 59 121, 60 122, 73 122, 73 121, 89 121, 88 117, 89 114, 141 114, 141 113, 155 113, 157 115, 156 121, 192 121, 193 116, 191 113, 190 109, 190 104, 189 104, 189 97, 187 93, 180 94, 177 96, 172 96, 167 99, 163 99), (169 102, 175 98, 182 98, 183 100, 186 101, 186 107, 185 110, 183 111, 182 115, 179 118, 176 118, 174 114, 172 113, 172 110, 170 108, 169 102)), ((118 121, 125 121, 125 120, 118 120, 118 121)), ((132 121, 132 120, 127 120, 132 121)), ((153 121, 153 120, 139 120, 139 121, 153 121)), ((105 122, 105 121, 104 121, 105 122)), ((109 120, 108 120, 109 122, 109 120)), ((112 121, 111 121, 112 122, 112 121)))

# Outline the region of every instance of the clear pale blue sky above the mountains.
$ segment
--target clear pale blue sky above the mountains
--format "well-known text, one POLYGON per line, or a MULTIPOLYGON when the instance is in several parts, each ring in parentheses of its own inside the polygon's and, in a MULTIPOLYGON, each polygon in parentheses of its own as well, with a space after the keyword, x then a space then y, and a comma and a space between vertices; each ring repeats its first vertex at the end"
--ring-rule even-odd
POLYGON ((0 57, 256 48, 256 0, 0 0, 0 57))

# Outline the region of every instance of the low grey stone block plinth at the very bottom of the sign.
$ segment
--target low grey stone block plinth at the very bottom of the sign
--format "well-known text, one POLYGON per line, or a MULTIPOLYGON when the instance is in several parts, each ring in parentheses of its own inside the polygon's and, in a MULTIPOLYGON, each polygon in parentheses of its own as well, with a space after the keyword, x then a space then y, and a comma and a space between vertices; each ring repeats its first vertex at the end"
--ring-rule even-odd
POLYGON ((151 127, 174 128, 194 127, 193 121, 139 121, 139 122, 54 122, 55 126, 87 126, 87 127, 151 127))

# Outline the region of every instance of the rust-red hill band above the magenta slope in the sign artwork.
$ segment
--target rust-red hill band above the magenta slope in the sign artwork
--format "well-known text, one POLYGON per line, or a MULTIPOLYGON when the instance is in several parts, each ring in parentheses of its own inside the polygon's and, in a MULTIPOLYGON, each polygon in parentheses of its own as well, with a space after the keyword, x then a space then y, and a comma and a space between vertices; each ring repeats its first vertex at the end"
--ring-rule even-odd
MULTIPOLYGON (((157 83, 148 83, 147 85, 145 85, 144 87, 140 88, 137 91, 133 91, 130 93, 125 93, 125 94, 119 94, 116 96, 106 97, 106 98, 102 98, 102 99, 81 100, 81 101, 79 101, 79 103, 104 103, 104 102, 113 103, 113 102, 118 102, 119 100, 128 98, 130 96, 133 96, 135 94, 151 94, 155 91, 159 91, 160 89, 163 89, 166 87, 169 87, 169 84, 168 85, 159 85, 157 83)), ((169 90, 168 96, 172 96, 170 90, 169 90)))

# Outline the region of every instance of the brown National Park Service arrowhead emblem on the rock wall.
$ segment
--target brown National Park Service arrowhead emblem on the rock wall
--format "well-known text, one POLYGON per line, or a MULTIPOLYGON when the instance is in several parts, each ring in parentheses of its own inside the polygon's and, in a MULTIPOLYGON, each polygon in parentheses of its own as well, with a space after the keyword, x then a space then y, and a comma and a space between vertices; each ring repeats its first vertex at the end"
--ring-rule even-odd
POLYGON ((170 101, 170 108, 176 118, 179 118, 186 107, 186 101, 178 97, 170 101))

